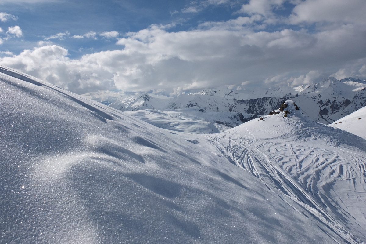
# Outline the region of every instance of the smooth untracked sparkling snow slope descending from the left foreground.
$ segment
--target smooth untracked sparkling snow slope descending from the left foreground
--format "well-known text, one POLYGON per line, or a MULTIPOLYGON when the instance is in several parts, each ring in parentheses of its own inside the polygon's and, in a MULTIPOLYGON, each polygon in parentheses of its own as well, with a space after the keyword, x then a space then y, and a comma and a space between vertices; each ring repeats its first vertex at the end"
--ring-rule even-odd
POLYGON ((3 243, 361 243, 232 164, 224 139, 0 70, 3 243))

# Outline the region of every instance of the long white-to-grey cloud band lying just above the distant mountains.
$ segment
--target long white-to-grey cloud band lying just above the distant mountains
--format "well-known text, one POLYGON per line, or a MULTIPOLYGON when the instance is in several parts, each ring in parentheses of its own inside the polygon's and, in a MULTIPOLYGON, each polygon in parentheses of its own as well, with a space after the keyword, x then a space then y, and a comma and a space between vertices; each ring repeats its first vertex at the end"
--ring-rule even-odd
MULTIPOLYGON (((111 89, 173 92, 245 81, 287 81, 295 86, 312 82, 322 74, 318 70, 336 72, 345 63, 365 58, 365 33, 348 25, 318 33, 242 32, 227 27, 167 32, 151 26, 120 38, 117 44, 122 50, 73 60, 67 58, 66 49, 47 45, 2 58, 0 63, 79 94, 111 89), (290 73, 299 75, 289 77, 290 73)), ((358 70, 363 64, 357 64, 358 70)))

